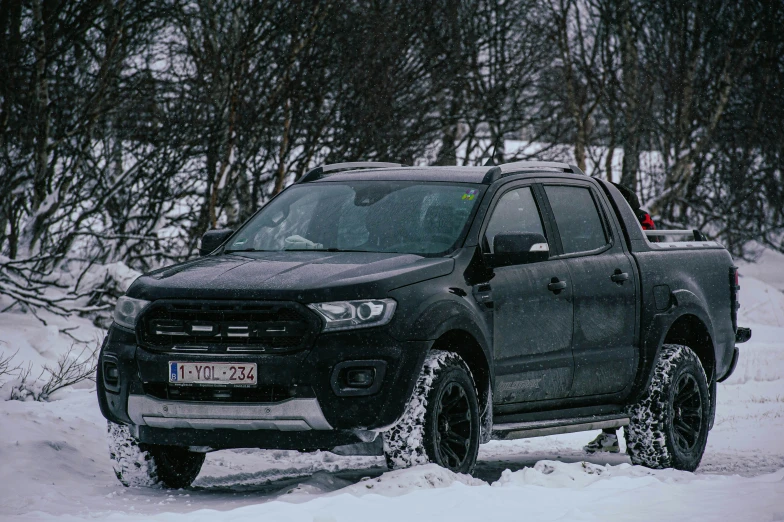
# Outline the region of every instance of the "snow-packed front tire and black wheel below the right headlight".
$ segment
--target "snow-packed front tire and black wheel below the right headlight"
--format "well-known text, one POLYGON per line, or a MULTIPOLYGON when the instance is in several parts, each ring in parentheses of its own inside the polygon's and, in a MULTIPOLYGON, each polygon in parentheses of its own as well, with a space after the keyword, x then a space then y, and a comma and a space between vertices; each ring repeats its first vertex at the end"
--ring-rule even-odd
POLYGON ((383 434, 387 466, 435 463, 471 473, 479 451, 480 417, 476 385, 463 359, 431 351, 403 416, 383 434))

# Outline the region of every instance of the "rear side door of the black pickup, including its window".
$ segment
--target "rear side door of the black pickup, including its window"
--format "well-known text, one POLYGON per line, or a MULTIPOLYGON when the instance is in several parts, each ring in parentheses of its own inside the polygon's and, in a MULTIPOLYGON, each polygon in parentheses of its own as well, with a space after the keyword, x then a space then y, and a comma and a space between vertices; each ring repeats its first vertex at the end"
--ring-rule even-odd
POLYGON ((623 390, 634 378, 634 266, 589 182, 543 185, 574 292, 572 396, 623 390))

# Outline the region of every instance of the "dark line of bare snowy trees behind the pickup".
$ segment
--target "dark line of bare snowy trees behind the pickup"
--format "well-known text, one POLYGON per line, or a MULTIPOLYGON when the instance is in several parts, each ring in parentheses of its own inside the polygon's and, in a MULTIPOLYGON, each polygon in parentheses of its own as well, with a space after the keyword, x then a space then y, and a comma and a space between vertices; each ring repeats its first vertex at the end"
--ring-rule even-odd
POLYGON ((366 159, 575 161, 784 250, 781 27, 766 0, 0 0, 0 286, 183 259, 366 159))

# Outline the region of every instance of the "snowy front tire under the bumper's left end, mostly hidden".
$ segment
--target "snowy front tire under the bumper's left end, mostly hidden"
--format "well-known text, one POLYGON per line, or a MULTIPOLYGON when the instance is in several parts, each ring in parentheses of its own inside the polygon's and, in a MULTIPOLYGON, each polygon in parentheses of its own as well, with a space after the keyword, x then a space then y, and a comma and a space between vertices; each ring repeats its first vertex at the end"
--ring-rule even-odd
POLYGON ((185 488, 204 464, 204 453, 177 446, 139 444, 128 426, 110 421, 108 432, 109 457, 123 486, 185 488))

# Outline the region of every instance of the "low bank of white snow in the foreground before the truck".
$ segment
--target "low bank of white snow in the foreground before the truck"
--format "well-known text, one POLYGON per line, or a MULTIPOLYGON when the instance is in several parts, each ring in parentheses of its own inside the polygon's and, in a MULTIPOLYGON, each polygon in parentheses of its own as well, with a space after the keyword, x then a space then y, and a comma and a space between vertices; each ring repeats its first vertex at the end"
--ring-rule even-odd
MULTIPOLYGON (((417 469, 398 473, 420 478, 417 469)), ((539 469, 509 472, 490 486, 453 482, 441 488, 410 488, 406 495, 341 491, 309 502, 276 500, 231 511, 201 509, 155 515, 114 513, 111 520, 216 522, 449 520, 773 520, 781 514, 784 470, 751 479, 651 471, 632 466, 600 468, 542 462, 539 469), (532 480, 532 477, 536 477, 532 480), (412 490, 413 489, 413 490, 412 490)), ((173 496, 172 496, 173 497, 173 496)), ((169 498, 169 497, 167 497, 169 498)), ((176 500, 166 503, 168 508, 176 500)), ((33 514, 39 520, 78 516, 33 514)))

